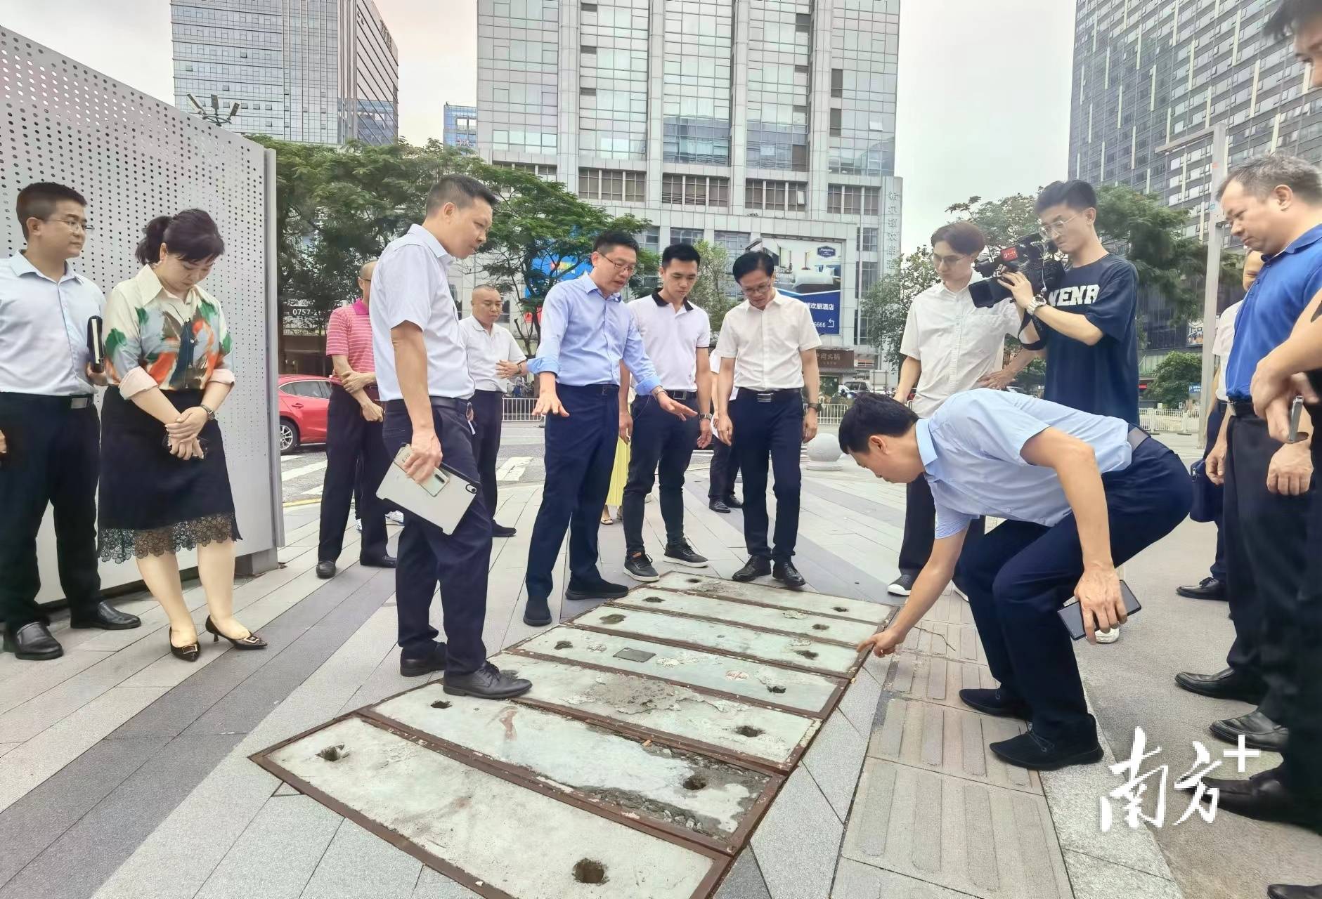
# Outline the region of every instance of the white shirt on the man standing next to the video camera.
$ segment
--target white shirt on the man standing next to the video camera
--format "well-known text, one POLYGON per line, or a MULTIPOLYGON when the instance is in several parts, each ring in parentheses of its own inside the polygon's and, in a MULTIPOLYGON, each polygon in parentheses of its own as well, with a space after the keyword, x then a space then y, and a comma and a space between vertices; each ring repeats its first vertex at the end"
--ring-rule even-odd
POLYGON ((978 308, 968 287, 952 293, 937 282, 915 296, 900 340, 900 353, 923 364, 914 414, 928 418, 954 394, 976 387, 978 378, 999 371, 1006 334, 1018 336, 1021 323, 1014 300, 978 308))

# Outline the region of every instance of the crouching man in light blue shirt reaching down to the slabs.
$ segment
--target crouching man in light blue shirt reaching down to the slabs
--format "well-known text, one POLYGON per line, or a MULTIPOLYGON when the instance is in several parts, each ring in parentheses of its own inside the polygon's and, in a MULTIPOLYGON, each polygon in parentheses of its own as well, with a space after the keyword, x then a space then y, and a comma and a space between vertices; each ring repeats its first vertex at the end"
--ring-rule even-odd
POLYGON ((992 744, 1005 762, 1054 769, 1101 759, 1097 724, 1056 613, 1079 598, 1084 631, 1125 620, 1116 565, 1188 513, 1183 463, 1118 418, 998 390, 948 399, 929 419, 865 394, 839 424, 841 450, 878 477, 925 477, 936 543, 895 619, 859 648, 895 652, 956 576, 1001 686, 960 690, 965 705, 1032 728, 992 744), (1006 521, 969 546, 978 516, 1006 521))

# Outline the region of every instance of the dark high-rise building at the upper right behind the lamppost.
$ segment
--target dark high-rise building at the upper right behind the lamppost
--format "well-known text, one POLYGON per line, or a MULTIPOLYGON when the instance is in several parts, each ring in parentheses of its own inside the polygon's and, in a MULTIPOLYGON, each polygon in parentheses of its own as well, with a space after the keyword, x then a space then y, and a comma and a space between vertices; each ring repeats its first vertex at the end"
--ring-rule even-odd
MULTIPOLYGON (((1322 163, 1318 99, 1290 44, 1264 32, 1274 8, 1276 0, 1079 0, 1071 176, 1188 209, 1186 233, 1202 239, 1220 186, 1211 137, 1163 145, 1224 122, 1231 167, 1273 151, 1322 163)), ((1190 328, 1154 292, 1140 297, 1140 319, 1145 378, 1169 350, 1202 340, 1200 323, 1190 328)))

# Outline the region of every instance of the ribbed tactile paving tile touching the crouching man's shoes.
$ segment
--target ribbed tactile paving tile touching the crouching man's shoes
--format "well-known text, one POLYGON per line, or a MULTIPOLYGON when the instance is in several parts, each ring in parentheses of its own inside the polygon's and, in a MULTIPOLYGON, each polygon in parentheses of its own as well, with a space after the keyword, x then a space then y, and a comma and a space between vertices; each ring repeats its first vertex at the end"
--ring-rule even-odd
POLYGON ((873 734, 867 754, 914 768, 1042 793, 1036 772, 1007 765, 988 748, 989 743, 1025 730, 1025 723, 1013 718, 895 697, 888 701, 886 723, 873 734))

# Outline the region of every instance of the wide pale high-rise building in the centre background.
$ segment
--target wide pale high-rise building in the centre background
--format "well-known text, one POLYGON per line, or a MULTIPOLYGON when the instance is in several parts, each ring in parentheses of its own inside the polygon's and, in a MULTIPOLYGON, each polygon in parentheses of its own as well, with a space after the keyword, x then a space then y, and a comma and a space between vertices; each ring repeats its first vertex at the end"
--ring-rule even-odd
POLYGON ((761 238, 828 345, 899 255, 899 0, 479 0, 477 147, 649 219, 652 250, 761 238))

